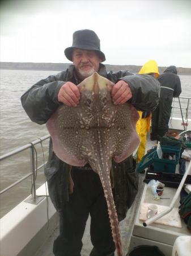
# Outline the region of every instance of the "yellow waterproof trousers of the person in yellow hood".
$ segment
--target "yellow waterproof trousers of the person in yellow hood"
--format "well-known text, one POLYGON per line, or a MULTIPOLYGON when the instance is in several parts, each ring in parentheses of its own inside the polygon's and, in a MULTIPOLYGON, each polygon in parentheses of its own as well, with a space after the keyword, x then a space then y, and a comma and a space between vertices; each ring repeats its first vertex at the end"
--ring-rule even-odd
POLYGON ((140 144, 137 150, 137 163, 139 163, 142 157, 145 155, 147 130, 150 131, 151 114, 147 118, 142 118, 141 111, 138 111, 139 119, 136 124, 137 134, 139 135, 140 144))

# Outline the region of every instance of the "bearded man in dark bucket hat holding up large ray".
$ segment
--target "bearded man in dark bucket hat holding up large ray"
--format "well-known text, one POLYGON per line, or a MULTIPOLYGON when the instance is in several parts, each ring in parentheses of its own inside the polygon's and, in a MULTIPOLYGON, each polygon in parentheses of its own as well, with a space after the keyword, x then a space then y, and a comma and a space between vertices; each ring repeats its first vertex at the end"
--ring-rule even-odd
MULTIPOLYGON (((61 104, 75 108, 80 100, 76 85, 95 71, 115 83, 112 89, 114 104, 131 102, 139 110, 150 111, 158 104, 159 82, 148 75, 131 75, 128 71, 106 72, 101 64, 105 55, 100 51, 100 40, 91 30, 79 30, 73 34, 73 46, 65 49, 67 59, 73 61, 66 71, 49 76, 23 94, 23 108, 32 121, 43 124, 61 104)), ((67 118, 67 117, 66 117, 67 118)), ((84 167, 72 167, 74 191, 69 195, 70 167, 53 152, 50 139, 49 160, 45 167, 49 195, 60 212, 60 236, 54 241, 56 256, 79 256, 82 237, 88 215, 91 216, 91 256, 113 256, 114 242, 99 175, 84 167)), ((138 190, 138 178, 132 156, 122 163, 113 163, 113 196, 118 220, 125 218, 138 190)))

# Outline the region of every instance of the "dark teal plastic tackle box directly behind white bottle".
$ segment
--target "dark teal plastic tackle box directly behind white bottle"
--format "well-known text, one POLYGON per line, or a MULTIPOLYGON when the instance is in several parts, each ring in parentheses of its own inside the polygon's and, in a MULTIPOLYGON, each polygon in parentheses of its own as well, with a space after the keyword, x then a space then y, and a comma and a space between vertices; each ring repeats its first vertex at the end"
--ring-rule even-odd
POLYGON ((176 160, 169 159, 159 159, 157 152, 153 156, 154 171, 155 172, 169 172, 175 174, 176 165, 179 163, 180 159, 180 148, 173 146, 161 146, 163 152, 171 152, 176 154, 176 160))

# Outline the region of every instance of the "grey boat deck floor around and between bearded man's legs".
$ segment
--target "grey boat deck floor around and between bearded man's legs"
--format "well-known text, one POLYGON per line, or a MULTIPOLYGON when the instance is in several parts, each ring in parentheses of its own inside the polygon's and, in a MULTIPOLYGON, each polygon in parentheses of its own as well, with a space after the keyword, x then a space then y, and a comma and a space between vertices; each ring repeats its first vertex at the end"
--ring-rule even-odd
MULTIPOLYGON (((150 149, 152 146, 156 144, 156 141, 150 141, 150 139, 147 139, 147 146, 146 150, 150 149)), ((135 222, 135 216, 139 207, 139 203, 141 201, 141 196, 143 192, 143 188, 145 186, 145 183, 143 183, 143 179, 145 178, 145 174, 139 174, 139 191, 138 195, 131 206, 131 208, 128 210, 127 216, 125 220, 120 222, 120 233, 121 233, 121 239, 122 239, 122 250, 124 253, 124 256, 129 251, 129 245, 130 245, 130 238, 133 232, 134 222, 135 222)), ((39 248, 36 254, 33 256, 54 256, 52 249, 53 249, 53 242, 56 239, 56 237, 59 234, 59 227, 56 228, 54 233, 48 238, 48 240, 45 241, 43 245, 39 248)), ((92 243, 90 240, 90 217, 88 218, 86 229, 84 232, 84 236, 82 239, 83 247, 81 251, 82 256, 89 256, 90 252, 92 250, 92 243)), ((117 255, 117 254, 115 254, 117 255)))

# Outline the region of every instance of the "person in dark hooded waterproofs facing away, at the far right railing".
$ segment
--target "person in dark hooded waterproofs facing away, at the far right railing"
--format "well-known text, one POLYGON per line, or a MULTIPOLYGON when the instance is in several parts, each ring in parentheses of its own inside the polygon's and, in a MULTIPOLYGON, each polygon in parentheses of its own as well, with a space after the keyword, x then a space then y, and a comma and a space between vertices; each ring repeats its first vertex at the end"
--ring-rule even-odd
POLYGON ((158 77, 160 82, 160 101, 158 107, 152 112, 151 119, 151 141, 159 140, 168 132, 168 122, 171 117, 172 98, 179 97, 181 93, 181 82, 177 76, 175 66, 169 66, 164 73, 158 77))

